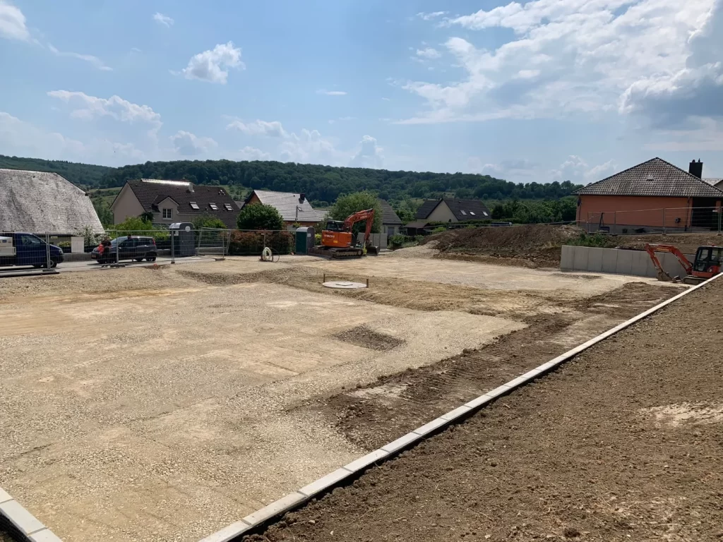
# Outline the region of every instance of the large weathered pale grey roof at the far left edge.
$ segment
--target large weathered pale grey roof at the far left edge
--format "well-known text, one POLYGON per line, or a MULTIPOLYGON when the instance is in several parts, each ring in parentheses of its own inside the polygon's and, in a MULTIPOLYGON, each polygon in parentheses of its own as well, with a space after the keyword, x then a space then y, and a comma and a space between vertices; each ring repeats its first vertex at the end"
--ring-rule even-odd
POLYGON ((0 169, 0 231, 103 231, 93 202, 80 188, 45 171, 0 169))

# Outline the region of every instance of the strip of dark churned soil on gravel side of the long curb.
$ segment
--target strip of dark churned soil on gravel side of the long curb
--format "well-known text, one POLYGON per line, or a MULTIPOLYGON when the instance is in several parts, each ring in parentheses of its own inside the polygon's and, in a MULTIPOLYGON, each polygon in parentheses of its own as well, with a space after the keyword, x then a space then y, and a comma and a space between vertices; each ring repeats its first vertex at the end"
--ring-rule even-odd
POLYGON ((675 293, 665 286, 629 283, 574 302, 575 311, 530 315, 524 319, 528 327, 481 348, 381 377, 304 410, 324 413, 351 442, 376 449, 675 293))

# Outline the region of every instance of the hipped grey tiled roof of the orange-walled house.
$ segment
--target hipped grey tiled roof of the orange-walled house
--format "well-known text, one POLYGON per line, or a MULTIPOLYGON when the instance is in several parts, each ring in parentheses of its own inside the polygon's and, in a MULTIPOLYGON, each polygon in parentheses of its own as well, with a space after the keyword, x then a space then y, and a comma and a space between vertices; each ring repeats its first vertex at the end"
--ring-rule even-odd
POLYGON ((596 196, 723 197, 723 190, 662 158, 635 165, 573 193, 596 196))

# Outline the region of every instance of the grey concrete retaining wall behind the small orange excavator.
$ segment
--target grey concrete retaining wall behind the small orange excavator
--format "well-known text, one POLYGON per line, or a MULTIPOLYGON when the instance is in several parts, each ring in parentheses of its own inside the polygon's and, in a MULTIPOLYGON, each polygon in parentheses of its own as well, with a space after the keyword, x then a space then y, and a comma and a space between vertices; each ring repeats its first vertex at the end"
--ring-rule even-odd
MULTIPOLYGON (((685 276, 685 269, 673 254, 656 252, 663 270, 670 276, 685 276)), ((691 262, 694 255, 686 254, 691 262)), ((617 273, 656 278, 655 266, 644 250, 597 249, 591 246, 562 246, 562 271, 617 273)))

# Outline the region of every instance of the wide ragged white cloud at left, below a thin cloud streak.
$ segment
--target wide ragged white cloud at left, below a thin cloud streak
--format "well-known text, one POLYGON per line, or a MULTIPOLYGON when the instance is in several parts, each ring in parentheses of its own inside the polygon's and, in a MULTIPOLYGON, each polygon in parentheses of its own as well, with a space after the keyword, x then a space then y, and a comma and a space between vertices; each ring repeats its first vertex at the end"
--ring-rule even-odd
POLYGON ((161 128, 161 115, 153 111, 149 106, 140 106, 137 103, 124 100, 120 96, 114 95, 106 99, 69 90, 51 90, 48 96, 58 98, 65 103, 80 106, 71 113, 76 119, 92 120, 98 117, 110 116, 122 122, 145 122, 152 125, 155 130, 161 128))

